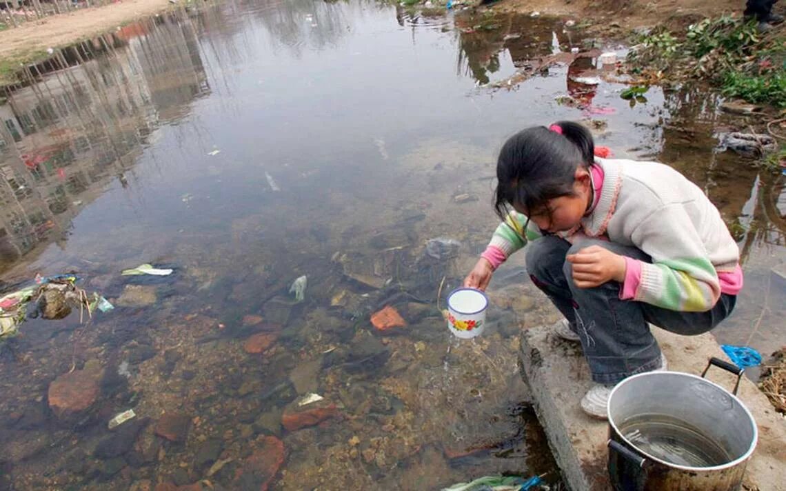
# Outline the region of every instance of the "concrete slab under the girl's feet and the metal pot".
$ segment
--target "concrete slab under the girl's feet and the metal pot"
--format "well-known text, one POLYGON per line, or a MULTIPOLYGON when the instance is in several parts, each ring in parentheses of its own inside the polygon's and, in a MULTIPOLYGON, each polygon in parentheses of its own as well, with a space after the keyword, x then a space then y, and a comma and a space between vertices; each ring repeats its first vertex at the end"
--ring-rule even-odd
MULTIPOLYGON (((653 328, 669 369, 700 375, 710 357, 725 357, 714 337, 680 336, 653 328)), ((530 386, 534 409, 542 423, 556 463, 574 491, 610 489, 606 460, 608 426, 579 407, 592 381, 581 347, 553 335, 548 328, 522 332, 520 364, 530 386)), ((732 390, 734 377, 710 368, 707 378, 732 390)), ((747 466, 744 489, 786 490, 786 420, 748 379, 740 384, 740 400, 758 425, 757 449, 747 466)))

